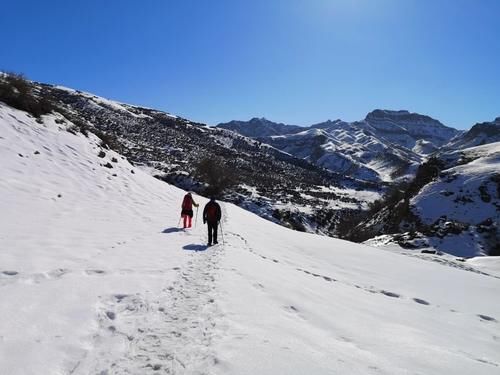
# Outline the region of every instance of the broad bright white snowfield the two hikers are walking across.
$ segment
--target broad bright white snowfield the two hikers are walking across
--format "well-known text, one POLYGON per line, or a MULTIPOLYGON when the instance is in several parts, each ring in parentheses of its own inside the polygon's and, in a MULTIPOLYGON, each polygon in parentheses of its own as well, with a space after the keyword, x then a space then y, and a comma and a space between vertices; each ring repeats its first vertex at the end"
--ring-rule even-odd
POLYGON ((2 374, 500 370, 500 279, 230 204, 207 249, 183 191, 67 125, 0 104, 2 374))

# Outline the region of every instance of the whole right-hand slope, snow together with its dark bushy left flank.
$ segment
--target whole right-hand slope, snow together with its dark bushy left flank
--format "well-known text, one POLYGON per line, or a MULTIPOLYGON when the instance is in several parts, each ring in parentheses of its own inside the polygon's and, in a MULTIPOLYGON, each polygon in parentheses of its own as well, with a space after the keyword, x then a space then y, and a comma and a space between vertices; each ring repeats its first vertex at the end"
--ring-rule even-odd
POLYGON ((500 255, 500 142, 438 156, 415 181, 433 177, 407 187, 414 193, 382 205, 358 230, 376 236, 368 243, 377 246, 396 242, 466 258, 500 255))

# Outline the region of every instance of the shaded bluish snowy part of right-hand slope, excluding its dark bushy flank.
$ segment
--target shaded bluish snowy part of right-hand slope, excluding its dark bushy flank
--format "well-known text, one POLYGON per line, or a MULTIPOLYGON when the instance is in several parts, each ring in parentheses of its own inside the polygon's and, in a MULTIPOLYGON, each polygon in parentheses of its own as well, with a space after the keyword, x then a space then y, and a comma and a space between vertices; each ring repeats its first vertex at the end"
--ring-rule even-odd
MULTIPOLYGON (((433 225, 434 247, 474 256, 500 251, 500 142, 442 155, 440 178, 412 199, 419 219, 433 225)), ((498 254, 497 254, 498 255, 498 254)))

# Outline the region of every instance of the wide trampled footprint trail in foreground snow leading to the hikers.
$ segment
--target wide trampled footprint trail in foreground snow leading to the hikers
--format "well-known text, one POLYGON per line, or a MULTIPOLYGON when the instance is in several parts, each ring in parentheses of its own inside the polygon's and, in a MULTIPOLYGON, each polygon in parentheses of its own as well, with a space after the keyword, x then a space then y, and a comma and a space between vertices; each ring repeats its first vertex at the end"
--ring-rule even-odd
POLYGON ((175 267, 175 281, 159 295, 102 298, 96 346, 74 374, 210 373, 217 363, 211 343, 221 316, 216 280, 224 247, 197 247, 200 251, 188 255, 186 266, 175 267))

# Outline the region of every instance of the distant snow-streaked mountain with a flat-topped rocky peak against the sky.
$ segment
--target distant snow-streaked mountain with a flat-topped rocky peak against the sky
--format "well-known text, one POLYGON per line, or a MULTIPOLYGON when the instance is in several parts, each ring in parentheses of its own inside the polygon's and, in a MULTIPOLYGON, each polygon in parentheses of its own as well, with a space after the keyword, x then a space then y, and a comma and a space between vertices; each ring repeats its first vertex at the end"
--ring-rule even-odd
MULTIPOLYGON (((393 181, 414 173, 423 158, 460 134, 429 116, 408 111, 375 110, 362 121, 326 121, 293 132, 268 136, 267 121, 218 127, 244 132, 313 164, 369 181, 393 181), (264 126, 263 126, 264 125, 264 126)), ((281 127, 286 131, 286 127, 281 127)))

